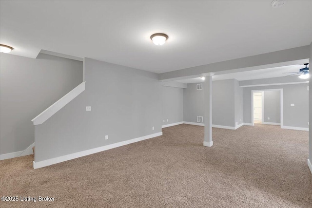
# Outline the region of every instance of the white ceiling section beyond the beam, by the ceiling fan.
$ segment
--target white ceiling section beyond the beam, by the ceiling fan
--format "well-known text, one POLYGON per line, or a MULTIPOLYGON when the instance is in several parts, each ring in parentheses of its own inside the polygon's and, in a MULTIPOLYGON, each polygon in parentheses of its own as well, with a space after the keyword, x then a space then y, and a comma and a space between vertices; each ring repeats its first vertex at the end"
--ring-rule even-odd
MULTIPOLYGON (((236 72, 229 73, 223 75, 215 75, 213 76, 213 80, 223 80, 223 79, 237 79, 238 81, 242 80, 251 80, 251 79, 264 79, 264 78, 272 78, 272 77, 281 77, 288 76, 291 74, 283 74, 288 72, 299 72, 299 69, 304 68, 304 65, 292 65, 292 66, 283 66, 283 67, 275 67, 269 69, 259 69, 245 72, 236 72)), ((299 76, 299 75, 297 75, 299 76)), ((190 78, 190 79, 181 79, 176 80, 181 83, 199 83, 203 82, 200 77, 190 78)))

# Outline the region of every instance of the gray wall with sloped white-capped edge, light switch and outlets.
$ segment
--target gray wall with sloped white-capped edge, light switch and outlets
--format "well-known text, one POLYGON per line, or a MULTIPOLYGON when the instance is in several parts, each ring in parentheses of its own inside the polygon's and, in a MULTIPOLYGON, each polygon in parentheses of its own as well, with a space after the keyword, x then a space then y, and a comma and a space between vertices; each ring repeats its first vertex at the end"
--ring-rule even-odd
POLYGON ((35 162, 161 132, 157 74, 90 58, 84 67, 85 91, 36 126, 35 162))

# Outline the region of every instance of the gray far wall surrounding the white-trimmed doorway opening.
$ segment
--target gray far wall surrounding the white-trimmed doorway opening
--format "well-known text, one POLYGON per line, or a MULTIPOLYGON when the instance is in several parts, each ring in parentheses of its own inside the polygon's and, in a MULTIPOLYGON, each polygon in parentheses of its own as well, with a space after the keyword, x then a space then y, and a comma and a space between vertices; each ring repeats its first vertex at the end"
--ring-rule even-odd
POLYGON ((309 128, 308 83, 244 88, 244 123, 251 123, 251 91, 283 89, 284 126, 309 128), (295 104, 291 107, 291 104, 295 104))

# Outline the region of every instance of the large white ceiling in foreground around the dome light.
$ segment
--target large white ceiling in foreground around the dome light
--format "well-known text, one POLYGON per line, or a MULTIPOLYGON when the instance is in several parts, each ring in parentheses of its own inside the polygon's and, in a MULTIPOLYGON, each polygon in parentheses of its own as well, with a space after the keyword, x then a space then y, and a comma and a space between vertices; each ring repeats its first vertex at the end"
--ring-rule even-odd
POLYGON ((163 73, 304 45, 312 1, 0 1, 0 43, 163 73), (168 41, 156 46, 154 33, 168 41))

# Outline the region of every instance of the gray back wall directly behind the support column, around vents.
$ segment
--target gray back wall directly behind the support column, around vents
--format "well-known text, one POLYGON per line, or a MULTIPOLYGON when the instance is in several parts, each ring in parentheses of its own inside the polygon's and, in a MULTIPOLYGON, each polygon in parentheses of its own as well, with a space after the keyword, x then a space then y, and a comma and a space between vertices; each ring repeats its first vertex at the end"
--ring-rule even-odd
MULTIPOLYGON (((204 91, 196 90, 196 84, 184 89, 184 121, 197 122, 197 116, 204 115, 204 91)), ((234 127, 243 122, 243 89, 238 85, 235 79, 213 81, 214 125, 234 127)))

